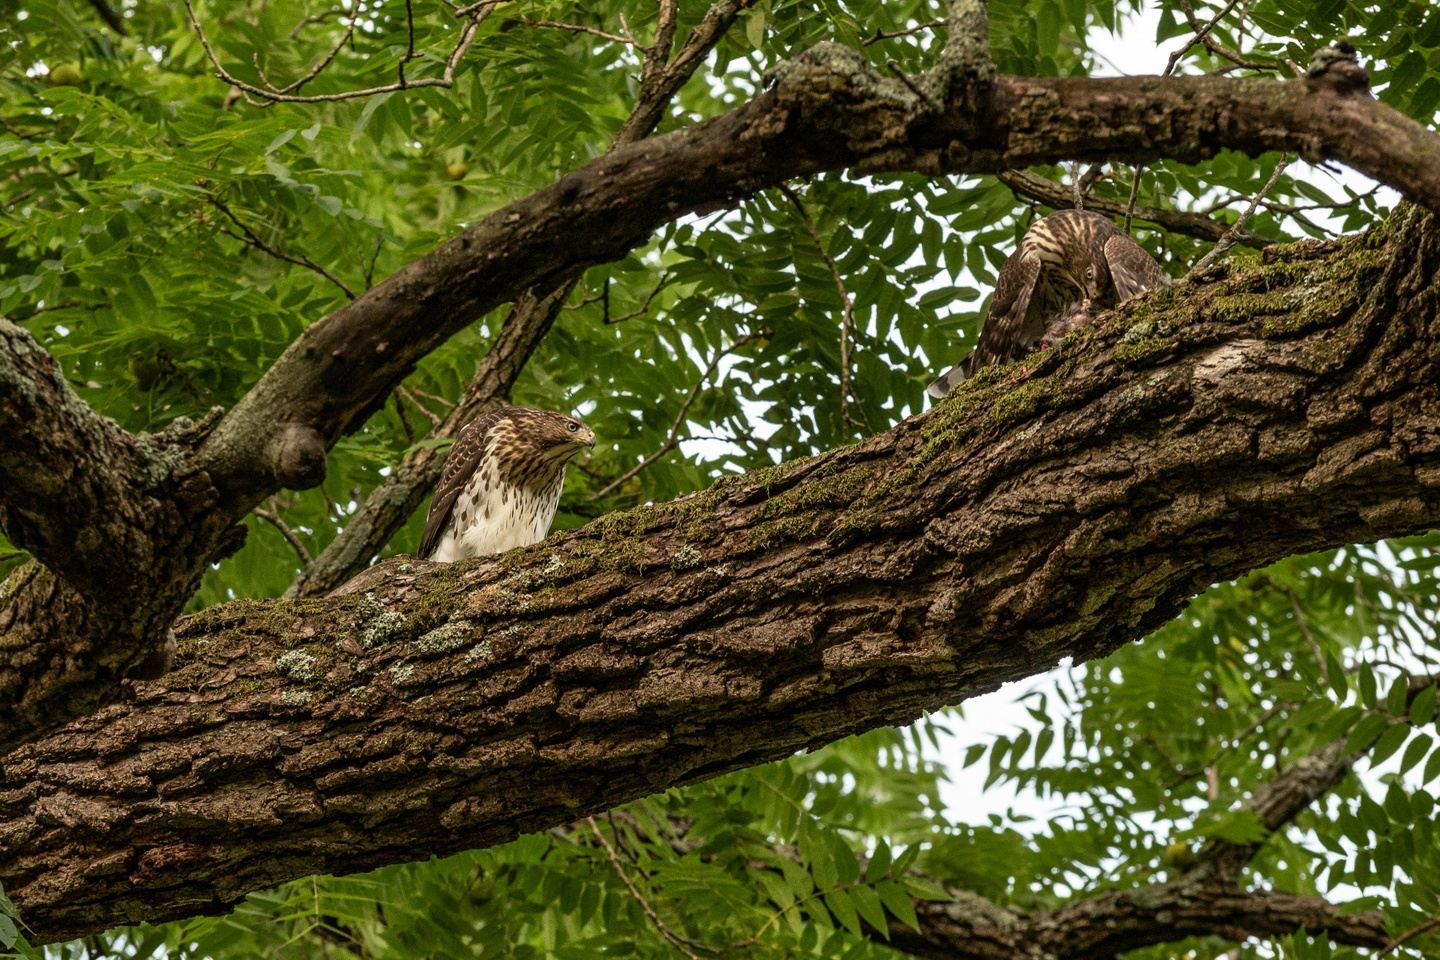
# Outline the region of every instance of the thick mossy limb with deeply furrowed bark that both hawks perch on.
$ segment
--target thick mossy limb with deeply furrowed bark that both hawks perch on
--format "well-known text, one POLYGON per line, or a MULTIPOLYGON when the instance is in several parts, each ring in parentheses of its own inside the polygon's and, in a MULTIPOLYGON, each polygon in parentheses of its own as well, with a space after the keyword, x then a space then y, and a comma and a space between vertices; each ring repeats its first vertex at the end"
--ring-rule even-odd
POLYGON ((495 843, 1103 655, 1207 584, 1440 518, 1440 229, 1277 248, 852 448, 527 551, 179 628, 0 760, 40 940, 495 843))

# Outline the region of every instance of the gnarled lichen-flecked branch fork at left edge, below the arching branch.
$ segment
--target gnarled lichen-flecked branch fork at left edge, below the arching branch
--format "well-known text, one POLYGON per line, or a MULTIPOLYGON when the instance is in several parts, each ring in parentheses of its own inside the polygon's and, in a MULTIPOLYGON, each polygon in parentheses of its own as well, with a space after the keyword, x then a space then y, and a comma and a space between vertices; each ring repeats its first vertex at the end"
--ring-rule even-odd
POLYGON ((217 495, 177 471, 180 430, 135 436, 98 416, 3 318, 0 436, 0 527, 45 564, 0 583, 3 753, 101 705, 158 656, 199 583, 187 557, 229 522, 203 520, 217 495))

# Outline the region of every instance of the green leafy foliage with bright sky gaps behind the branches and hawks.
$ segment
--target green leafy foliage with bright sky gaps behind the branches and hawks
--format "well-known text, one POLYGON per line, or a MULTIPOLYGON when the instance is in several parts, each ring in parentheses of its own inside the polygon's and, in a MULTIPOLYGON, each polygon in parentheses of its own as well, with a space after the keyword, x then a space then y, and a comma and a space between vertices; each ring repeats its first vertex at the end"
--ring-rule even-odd
MULTIPOLYGON (((408 6, 419 52, 408 69, 438 75, 458 30, 439 1, 212 1, 196 13, 228 69, 287 82, 354 12, 353 40, 305 88, 321 94, 395 78, 410 49, 408 6)), ((992 3, 995 59, 1008 73, 1112 69, 1092 43, 1142 6, 992 3)), ((1152 7, 1155 42, 1185 45, 1184 9, 1152 7)), ((213 79, 181 3, 117 10, 124 35, 75 0, 19 0, 0 26, 0 312, 40 337, 84 399, 128 429, 235 403, 348 294, 603 151, 632 105, 639 52, 540 22, 608 33, 625 24, 644 40, 657 16, 645 3, 516 0, 484 23, 452 89, 258 108, 213 79)), ((706 3, 683 0, 680 10, 684 36, 706 3)), ((742 102, 768 68, 819 40, 919 71, 936 30, 916 27, 939 13, 917 0, 755 3, 661 130, 742 102)), ((1257 65, 1247 69, 1284 76, 1332 37, 1362 37, 1381 99, 1426 122, 1440 105, 1431 4, 1195 7, 1200 22, 1217 14, 1211 39, 1257 65)), ((1175 69, 1238 68, 1194 46, 1175 69)), ((1099 167, 1084 183, 1122 204, 1133 184, 1139 207, 1230 223, 1280 163, 1223 154, 1204 167, 1099 167)), ((1068 189, 1077 171, 1037 173, 1068 189)), ((520 403, 580 412, 602 440, 570 471, 559 524, 834 448, 923 409, 924 383, 963 354, 999 263, 1044 212, 994 177, 822 176, 684 220, 590 269, 514 390, 520 403)), ((1377 194, 1296 164, 1247 226, 1295 239, 1365 229, 1382 214, 1377 194)), ((1210 246, 1145 220, 1135 233, 1176 276, 1210 246)), ((269 504, 279 522, 252 518, 246 547, 210 571, 194 606, 282 593, 302 557, 281 528, 310 554, 323 548, 423 442, 501 317, 435 351, 402 396, 337 446, 321 489, 269 504)), ((386 551, 413 550, 422 520, 386 551)), ((1410 697, 1405 685, 1437 669, 1437 547, 1430 537, 1346 548, 1218 586, 1145 643, 1038 684, 1012 733, 946 757, 949 767, 939 744, 945 725, 965 730, 960 711, 671 790, 593 825, 301 881, 251 897, 230 917, 50 953, 894 956, 877 931, 887 917, 913 921, 913 897, 958 888, 1056 907, 1164 878, 1207 836, 1257 838, 1238 803, 1333 740, 1374 744, 1361 776, 1270 839, 1248 879, 1375 904, 1397 933, 1410 930, 1440 911, 1426 786, 1440 777, 1434 688, 1410 697), (995 805, 979 797, 946 806, 942 784, 963 767, 1037 797, 1045 816, 985 813, 995 805)), ((0 573, 17 560, 0 541, 0 573)), ((1424 956, 1426 943, 1392 956, 1424 956)), ((1132 956, 1227 948, 1195 941, 1132 956)), ((1358 954, 1297 936, 1251 941, 1238 956, 1358 954)))

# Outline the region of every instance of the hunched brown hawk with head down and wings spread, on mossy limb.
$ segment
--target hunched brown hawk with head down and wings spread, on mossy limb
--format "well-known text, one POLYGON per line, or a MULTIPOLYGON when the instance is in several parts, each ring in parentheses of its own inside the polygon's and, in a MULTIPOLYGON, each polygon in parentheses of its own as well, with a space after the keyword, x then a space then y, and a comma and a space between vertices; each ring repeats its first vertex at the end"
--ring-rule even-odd
POLYGON ((1020 249, 999 268, 975 350, 926 391, 943 397, 978 367, 1024 357, 1051 327, 1068 332, 1090 309, 1115 307, 1165 279, 1155 258, 1109 217, 1089 210, 1051 213, 1025 230, 1020 249))

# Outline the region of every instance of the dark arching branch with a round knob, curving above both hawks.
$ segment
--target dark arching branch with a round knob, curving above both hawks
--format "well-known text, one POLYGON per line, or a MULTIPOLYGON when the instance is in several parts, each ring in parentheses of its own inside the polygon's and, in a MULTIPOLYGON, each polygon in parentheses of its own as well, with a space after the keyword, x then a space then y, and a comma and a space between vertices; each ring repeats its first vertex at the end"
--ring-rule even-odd
POLYGON ((773 89, 720 118, 622 147, 495 212, 307 328, 206 446, 233 508, 318 482, 328 445, 471 318, 622 256, 680 216, 792 177, 1290 150, 1342 160, 1440 207, 1440 137, 1318 82, 999 78, 973 109, 956 96, 936 111, 845 47, 816 47, 775 76, 773 89))

